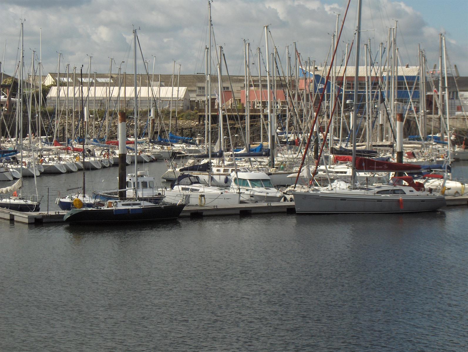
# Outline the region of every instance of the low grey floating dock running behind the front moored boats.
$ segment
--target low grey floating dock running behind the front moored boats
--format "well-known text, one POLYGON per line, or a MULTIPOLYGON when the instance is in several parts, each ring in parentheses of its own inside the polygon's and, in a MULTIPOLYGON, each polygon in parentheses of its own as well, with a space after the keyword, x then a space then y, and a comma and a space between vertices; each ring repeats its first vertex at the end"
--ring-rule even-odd
MULTIPOLYGON (((447 207, 468 206, 468 196, 446 197, 447 207)), ((204 217, 204 216, 244 216, 254 214, 295 213, 293 201, 279 203, 246 203, 229 206, 200 207, 186 206, 180 217, 204 217)), ((28 213, 6 208, 0 208, 0 219, 14 221, 16 223, 63 223, 66 211, 53 211, 49 213, 28 213)))

